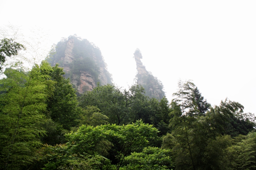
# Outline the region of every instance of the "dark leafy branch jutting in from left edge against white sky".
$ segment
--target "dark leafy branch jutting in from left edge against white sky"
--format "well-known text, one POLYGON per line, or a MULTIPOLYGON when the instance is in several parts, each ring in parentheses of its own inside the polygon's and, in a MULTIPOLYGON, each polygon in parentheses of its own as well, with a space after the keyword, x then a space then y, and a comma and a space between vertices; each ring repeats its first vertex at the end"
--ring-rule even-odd
POLYGON ((2 65, 6 60, 6 57, 18 55, 18 52, 25 47, 15 42, 13 39, 4 38, 0 42, 0 71, 2 71, 2 65))

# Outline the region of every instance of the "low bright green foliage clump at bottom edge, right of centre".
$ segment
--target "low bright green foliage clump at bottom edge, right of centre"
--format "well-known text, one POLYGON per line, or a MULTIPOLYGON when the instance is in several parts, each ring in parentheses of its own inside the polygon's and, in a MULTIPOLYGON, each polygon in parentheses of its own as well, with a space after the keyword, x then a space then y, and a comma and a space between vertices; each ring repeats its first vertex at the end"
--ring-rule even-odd
POLYGON ((156 147, 144 148, 142 152, 133 152, 125 157, 126 166, 121 170, 167 170, 173 166, 171 150, 159 149, 156 147))

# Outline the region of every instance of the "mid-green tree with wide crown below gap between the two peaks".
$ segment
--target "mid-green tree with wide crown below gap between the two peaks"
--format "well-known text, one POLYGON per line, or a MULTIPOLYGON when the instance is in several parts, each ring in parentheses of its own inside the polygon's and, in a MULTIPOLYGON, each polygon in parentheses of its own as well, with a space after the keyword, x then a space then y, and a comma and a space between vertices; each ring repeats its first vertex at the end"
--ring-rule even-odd
MULTIPOLYGON (((146 97, 144 88, 132 85, 130 89, 122 91, 114 85, 98 86, 92 92, 85 92, 79 99, 81 107, 96 106, 101 113, 108 116, 109 123, 127 124, 136 122, 146 97)), ((144 121, 144 120, 143 120, 144 121)))

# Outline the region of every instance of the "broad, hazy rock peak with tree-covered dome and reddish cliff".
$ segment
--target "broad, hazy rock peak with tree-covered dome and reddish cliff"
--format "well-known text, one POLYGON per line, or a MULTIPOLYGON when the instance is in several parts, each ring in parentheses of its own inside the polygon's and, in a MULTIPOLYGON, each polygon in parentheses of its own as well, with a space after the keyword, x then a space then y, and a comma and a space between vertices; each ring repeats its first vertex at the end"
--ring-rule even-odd
POLYGON ((76 36, 63 39, 48 61, 52 66, 59 63, 63 67, 64 76, 70 79, 79 93, 92 91, 97 82, 100 85, 112 83, 100 49, 86 39, 76 36))

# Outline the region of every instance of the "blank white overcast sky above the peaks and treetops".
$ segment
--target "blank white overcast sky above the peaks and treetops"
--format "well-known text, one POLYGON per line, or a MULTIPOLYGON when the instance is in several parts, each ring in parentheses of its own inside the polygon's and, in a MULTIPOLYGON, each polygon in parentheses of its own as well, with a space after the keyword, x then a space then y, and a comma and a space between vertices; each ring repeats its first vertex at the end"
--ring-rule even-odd
MULTIPOLYGON (((179 80, 193 80, 209 103, 227 97, 256 114, 256 1, 0 0, 0 27, 40 30, 42 55, 76 34, 101 50, 114 83, 134 83, 139 48, 169 101, 179 80), (44 35, 42 37, 42 35, 44 35)), ((30 31, 33 30, 34 31, 30 31)))

